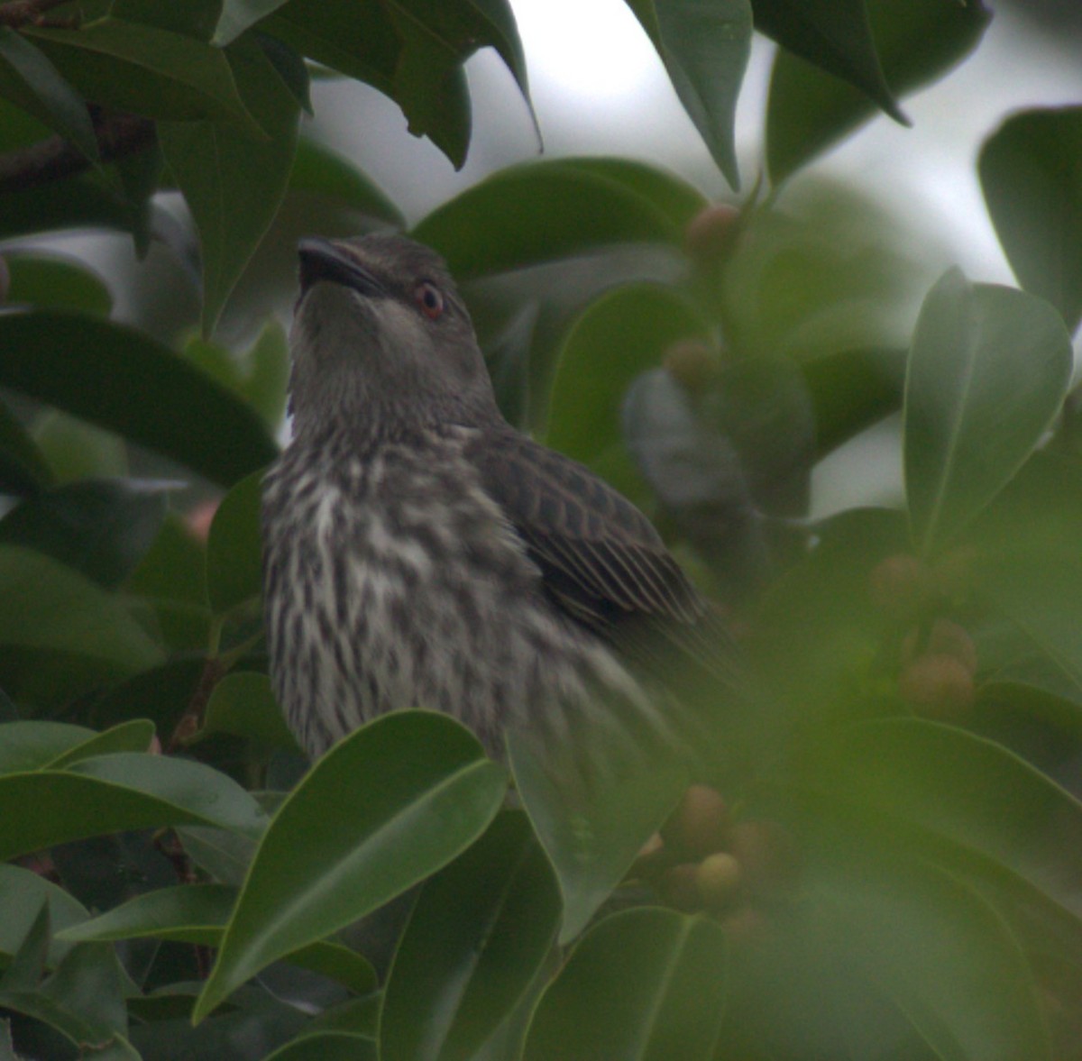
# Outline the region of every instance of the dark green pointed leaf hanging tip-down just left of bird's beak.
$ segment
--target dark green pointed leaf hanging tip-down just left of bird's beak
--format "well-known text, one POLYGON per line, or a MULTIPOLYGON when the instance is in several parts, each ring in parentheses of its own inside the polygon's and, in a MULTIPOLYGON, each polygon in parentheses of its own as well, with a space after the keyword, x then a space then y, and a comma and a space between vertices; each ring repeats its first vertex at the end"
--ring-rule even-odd
POLYGON ((202 331, 225 302, 286 195, 300 106, 251 41, 226 53, 245 101, 269 137, 222 121, 160 122, 166 161, 184 193, 202 249, 202 331))

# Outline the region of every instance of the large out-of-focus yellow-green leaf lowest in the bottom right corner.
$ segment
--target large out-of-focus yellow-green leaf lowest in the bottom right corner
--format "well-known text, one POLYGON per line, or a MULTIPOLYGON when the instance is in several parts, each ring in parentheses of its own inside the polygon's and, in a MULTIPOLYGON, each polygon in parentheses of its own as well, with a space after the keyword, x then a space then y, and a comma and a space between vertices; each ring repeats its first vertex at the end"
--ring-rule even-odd
POLYGON ((937 1058, 1050 1059, 1033 974, 995 911, 915 859, 834 845, 808 873, 817 929, 901 1010, 937 1058))

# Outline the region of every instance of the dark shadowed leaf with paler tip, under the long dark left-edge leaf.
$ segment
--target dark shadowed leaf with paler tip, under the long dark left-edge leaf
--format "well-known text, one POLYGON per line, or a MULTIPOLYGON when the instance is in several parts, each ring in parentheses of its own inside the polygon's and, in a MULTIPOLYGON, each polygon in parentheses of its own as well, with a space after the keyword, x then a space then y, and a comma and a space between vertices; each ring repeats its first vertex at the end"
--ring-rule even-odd
POLYGON ((166 516, 153 483, 89 480, 45 490, 0 519, 0 543, 23 545, 115 589, 146 554, 166 516))

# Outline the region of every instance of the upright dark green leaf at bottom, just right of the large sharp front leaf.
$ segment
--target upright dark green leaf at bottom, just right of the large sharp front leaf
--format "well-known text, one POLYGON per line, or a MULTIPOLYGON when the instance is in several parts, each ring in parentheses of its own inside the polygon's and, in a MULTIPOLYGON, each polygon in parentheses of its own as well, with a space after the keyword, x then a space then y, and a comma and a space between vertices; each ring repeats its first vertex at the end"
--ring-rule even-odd
POLYGON ((383 1061, 476 1056, 525 996, 559 913, 529 822, 501 815, 413 907, 383 996, 383 1061))

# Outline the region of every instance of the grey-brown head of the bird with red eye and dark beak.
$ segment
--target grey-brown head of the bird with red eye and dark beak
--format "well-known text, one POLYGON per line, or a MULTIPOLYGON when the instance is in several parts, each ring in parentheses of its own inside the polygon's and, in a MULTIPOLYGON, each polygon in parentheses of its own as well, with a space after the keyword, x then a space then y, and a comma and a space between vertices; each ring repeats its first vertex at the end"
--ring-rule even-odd
POLYGON ((377 432, 496 413, 466 313, 437 254, 403 236, 301 241, 290 333, 296 432, 335 417, 377 432))

